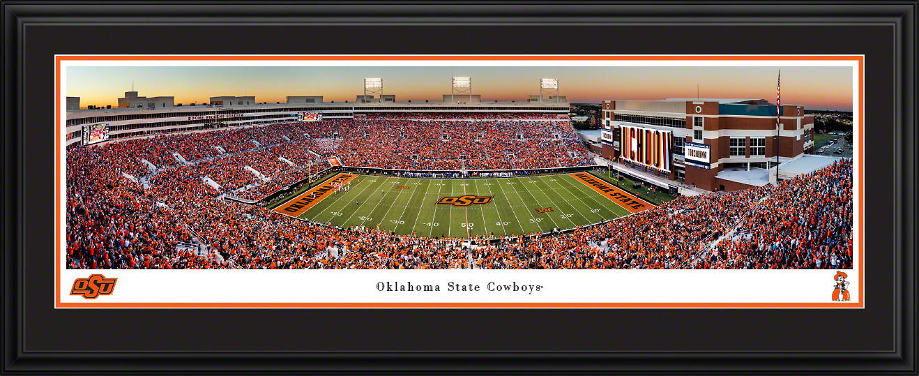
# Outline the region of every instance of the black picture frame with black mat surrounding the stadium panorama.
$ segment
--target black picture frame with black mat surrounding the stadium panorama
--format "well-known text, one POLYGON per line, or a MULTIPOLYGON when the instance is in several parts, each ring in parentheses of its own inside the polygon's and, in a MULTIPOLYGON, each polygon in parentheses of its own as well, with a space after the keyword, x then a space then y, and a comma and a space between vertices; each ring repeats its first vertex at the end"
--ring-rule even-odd
POLYGON ((2 370, 916 374, 915 10, 915 2, 5 2, 2 370), (42 146, 53 134, 48 56, 418 51, 866 54, 866 308, 53 309, 42 231, 53 205, 42 199, 52 178, 42 146))

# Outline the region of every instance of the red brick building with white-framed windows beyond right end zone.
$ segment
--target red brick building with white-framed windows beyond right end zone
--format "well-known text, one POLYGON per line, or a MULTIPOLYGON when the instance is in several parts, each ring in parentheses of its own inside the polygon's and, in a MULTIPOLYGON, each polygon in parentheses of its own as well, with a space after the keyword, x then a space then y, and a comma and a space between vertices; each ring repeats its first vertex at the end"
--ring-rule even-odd
POLYGON ((813 116, 796 105, 782 105, 778 135, 765 99, 604 100, 602 111, 604 157, 706 190, 775 181, 777 137, 779 169, 813 152, 813 116))

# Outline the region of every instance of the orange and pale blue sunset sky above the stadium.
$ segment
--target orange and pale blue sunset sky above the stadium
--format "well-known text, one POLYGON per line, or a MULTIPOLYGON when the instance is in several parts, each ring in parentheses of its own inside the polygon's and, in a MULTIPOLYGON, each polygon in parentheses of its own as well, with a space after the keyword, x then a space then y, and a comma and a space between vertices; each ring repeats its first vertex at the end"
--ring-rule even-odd
MULTIPOLYGON (((482 101, 526 101, 539 95, 539 78, 558 78, 569 102, 667 97, 764 98, 776 100, 777 67, 69 67, 68 97, 80 106, 118 105, 134 89, 142 97, 176 97, 176 104, 209 97, 255 96, 261 102, 288 96, 323 96, 353 102, 363 78, 382 77, 383 94, 396 101, 439 101, 450 93, 450 74, 472 77, 482 101)), ((852 110, 852 68, 781 67, 782 103, 809 109, 852 110)))

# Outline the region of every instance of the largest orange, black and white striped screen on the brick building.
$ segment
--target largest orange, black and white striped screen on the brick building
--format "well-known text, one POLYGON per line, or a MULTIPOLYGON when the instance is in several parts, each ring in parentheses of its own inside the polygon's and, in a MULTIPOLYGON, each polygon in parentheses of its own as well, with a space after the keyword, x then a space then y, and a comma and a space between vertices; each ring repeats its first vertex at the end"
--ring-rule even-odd
POLYGON ((674 143, 672 131, 619 125, 621 158, 670 172, 670 149, 674 143))

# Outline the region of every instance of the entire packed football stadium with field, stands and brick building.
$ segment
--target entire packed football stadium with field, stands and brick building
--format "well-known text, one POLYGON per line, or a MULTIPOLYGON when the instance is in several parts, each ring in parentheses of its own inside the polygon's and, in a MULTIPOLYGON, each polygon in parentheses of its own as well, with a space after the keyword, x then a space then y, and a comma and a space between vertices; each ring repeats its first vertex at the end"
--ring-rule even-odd
POLYGON ((609 100, 596 146, 557 81, 419 103, 376 80, 353 103, 68 97, 67 268, 852 268, 853 164, 812 155, 800 106, 609 100))

